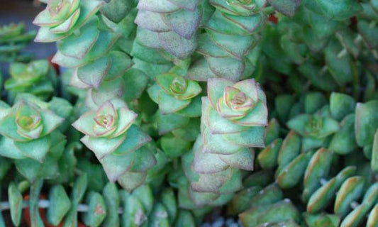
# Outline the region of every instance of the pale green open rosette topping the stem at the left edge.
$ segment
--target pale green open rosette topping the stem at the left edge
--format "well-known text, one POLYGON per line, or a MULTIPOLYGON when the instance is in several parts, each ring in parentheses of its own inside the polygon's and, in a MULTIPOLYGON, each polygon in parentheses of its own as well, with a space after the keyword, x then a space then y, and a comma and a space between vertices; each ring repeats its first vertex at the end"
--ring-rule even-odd
POLYGON ((52 140, 62 135, 55 129, 65 119, 37 103, 20 99, 0 112, 0 133, 4 136, 0 140, 0 155, 5 157, 43 162, 52 150, 52 140))

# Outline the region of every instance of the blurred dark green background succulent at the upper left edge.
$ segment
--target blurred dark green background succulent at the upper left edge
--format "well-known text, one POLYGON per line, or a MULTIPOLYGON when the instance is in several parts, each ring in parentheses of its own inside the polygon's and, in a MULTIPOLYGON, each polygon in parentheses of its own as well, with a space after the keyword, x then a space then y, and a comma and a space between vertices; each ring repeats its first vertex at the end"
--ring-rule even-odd
POLYGON ((35 37, 35 31, 25 32, 23 23, 11 23, 0 27, 0 62, 28 62, 32 54, 21 50, 35 37))

